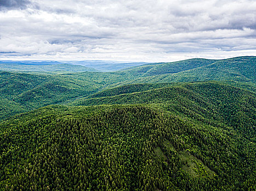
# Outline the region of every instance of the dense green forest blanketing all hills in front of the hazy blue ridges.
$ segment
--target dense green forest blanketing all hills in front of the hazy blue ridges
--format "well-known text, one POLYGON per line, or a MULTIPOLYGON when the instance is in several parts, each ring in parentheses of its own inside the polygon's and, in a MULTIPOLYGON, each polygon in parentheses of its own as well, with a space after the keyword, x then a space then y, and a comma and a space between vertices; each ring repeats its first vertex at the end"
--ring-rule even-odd
POLYGON ((2 71, 0 190, 256 190, 255 61, 2 71))

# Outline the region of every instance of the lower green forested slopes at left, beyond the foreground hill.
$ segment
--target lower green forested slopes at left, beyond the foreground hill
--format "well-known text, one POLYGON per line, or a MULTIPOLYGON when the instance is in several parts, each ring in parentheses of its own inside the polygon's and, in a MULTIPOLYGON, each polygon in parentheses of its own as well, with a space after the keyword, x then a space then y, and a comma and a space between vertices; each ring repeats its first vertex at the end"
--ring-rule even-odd
POLYGON ((45 105, 86 97, 107 85, 137 76, 124 72, 62 75, 0 72, 0 120, 45 105))

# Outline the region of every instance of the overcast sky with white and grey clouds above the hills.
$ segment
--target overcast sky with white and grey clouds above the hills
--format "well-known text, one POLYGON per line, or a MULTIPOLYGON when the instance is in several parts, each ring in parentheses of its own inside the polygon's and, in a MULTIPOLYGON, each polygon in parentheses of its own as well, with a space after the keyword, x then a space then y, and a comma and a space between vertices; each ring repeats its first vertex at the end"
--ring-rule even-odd
POLYGON ((0 59, 256 56, 255 0, 0 0, 0 59))

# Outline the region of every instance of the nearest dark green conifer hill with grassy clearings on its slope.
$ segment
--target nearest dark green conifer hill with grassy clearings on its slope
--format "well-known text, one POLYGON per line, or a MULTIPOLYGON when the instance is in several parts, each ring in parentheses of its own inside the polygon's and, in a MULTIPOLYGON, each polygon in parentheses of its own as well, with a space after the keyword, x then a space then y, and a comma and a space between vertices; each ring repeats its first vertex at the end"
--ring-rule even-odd
POLYGON ((0 123, 0 189, 254 190, 241 135, 150 106, 48 106, 0 123))

